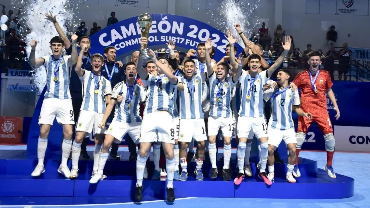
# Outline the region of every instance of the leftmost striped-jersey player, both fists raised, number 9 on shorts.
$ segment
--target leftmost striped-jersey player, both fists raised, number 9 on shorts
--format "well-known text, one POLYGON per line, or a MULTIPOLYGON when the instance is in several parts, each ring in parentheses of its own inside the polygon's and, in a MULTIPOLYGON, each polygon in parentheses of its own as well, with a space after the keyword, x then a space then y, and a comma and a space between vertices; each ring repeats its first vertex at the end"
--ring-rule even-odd
POLYGON ((32 67, 45 66, 47 91, 42 103, 38 123, 40 127, 40 137, 37 144, 38 164, 32 172, 33 177, 40 176, 45 172, 44 158, 47 148, 47 137, 50 128, 56 120, 63 126, 62 158, 58 172, 66 178, 70 176, 67 166, 68 157, 72 149, 73 134, 73 106, 69 92, 69 67, 77 62, 77 35, 72 35, 72 55, 63 56, 64 41, 61 37, 55 36, 50 40, 52 55, 45 55, 41 58, 35 57, 37 46, 36 40, 31 40, 32 48, 29 55, 29 64, 32 67))

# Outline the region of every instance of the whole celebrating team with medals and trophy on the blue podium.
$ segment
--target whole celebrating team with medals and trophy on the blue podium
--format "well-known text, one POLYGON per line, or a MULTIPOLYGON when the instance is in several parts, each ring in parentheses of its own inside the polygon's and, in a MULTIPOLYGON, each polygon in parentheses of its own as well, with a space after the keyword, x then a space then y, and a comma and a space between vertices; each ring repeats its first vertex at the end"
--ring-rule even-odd
MULTIPOLYGON (((55 27, 58 30, 57 25, 55 27)), ((230 180, 231 137, 235 129, 238 137, 238 175, 234 179, 236 185, 240 185, 245 175, 252 175, 248 164, 253 136, 259 140, 260 147, 258 176, 267 185, 271 185, 274 179, 273 151, 284 140, 289 150, 286 180, 296 182, 295 178, 300 176, 297 165, 299 150, 312 121, 316 121, 324 132, 328 159, 325 170, 330 177, 335 178, 331 164, 335 139, 326 110, 325 93, 334 104, 337 119, 340 113, 331 89, 330 76, 319 70, 319 53, 309 54, 310 68, 299 73, 292 83, 289 83, 291 74, 287 69, 280 69, 277 82, 274 82, 269 79, 289 51, 290 37, 285 38, 282 55, 273 65, 266 68, 259 46, 246 40, 239 24, 235 24, 235 29, 246 45, 246 59, 241 54, 235 57, 237 39, 228 31, 227 56, 219 62, 211 59, 215 51, 212 40, 208 39, 205 43, 199 43, 196 51, 189 50, 181 66, 178 66, 179 56, 174 51, 173 41, 167 44, 170 59, 157 58, 150 50, 148 55, 151 60, 144 62, 144 59, 133 58, 133 55, 133 62, 122 67, 122 63, 114 62, 114 47, 104 50, 106 60, 100 54, 91 55, 88 52, 91 47, 88 37, 79 39, 77 49, 78 37, 73 35, 71 45, 68 45, 70 55, 63 56, 65 42, 69 43, 69 40, 59 29, 60 37, 56 36, 50 41, 52 55, 41 58, 35 57, 37 42, 32 40, 29 63, 32 66, 45 66, 47 91, 39 117, 41 127, 37 151, 38 165, 31 175, 36 177, 45 172, 47 137, 56 117, 58 123, 63 126, 62 161, 58 172, 67 178, 78 177, 81 145, 90 134, 94 135, 95 140, 94 167, 90 183, 97 183, 106 178, 103 170, 112 144, 119 144, 126 134, 135 144, 140 143, 136 161, 137 201, 142 200, 142 181, 153 142, 154 151, 160 149, 160 145, 164 150, 169 202, 175 200, 173 180, 187 179, 187 148, 189 143, 193 145, 193 139, 197 142, 194 172, 196 179, 204 178, 202 165, 208 142, 212 164, 210 177, 216 178, 216 138, 219 131, 221 132, 224 142, 222 175, 224 180, 230 180), (82 84, 82 103, 77 110, 73 110, 69 91, 73 73, 82 84), (301 101, 297 88, 302 89, 301 101), (267 125, 264 100, 269 99, 272 103, 272 116, 267 125), (141 117, 140 105, 144 102, 144 116, 141 117), (299 115, 297 133, 294 132, 292 110, 299 115), (79 114, 78 121, 74 119, 74 113, 79 114), (108 122, 110 125, 107 126, 108 122), (72 142, 74 124, 76 135, 72 142), (71 170, 67 166, 70 152, 71 170)), ((140 43, 144 45, 148 41, 141 38, 140 43)), ((134 54, 137 56, 137 52, 134 54)), ((159 155, 154 156, 154 161, 159 161, 159 155)))

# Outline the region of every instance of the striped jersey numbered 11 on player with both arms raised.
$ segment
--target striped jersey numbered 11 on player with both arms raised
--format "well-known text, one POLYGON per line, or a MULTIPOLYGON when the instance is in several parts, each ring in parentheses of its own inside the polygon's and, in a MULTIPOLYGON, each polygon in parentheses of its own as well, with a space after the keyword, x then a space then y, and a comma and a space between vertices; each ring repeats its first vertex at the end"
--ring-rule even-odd
POLYGON ((241 108, 239 116, 264 117, 263 114, 263 85, 267 83, 267 70, 262 71, 255 77, 246 75, 243 71, 240 78, 241 108), (249 98, 249 99, 248 99, 249 98))

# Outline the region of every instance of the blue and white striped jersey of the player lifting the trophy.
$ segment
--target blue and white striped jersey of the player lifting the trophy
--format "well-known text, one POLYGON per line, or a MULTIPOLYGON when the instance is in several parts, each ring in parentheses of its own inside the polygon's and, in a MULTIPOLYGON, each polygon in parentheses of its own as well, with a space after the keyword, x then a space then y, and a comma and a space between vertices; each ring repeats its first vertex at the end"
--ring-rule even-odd
MULTIPOLYGON (((177 77, 178 82, 181 82, 181 77, 177 77)), ((177 84, 171 84, 169 79, 164 75, 152 76, 148 74, 146 80, 141 79, 142 83, 147 88, 146 91, 146 106, 144 115, 156 112, 167 111, 170 115, 173 113, 173 96, 177 89, 177 84)))

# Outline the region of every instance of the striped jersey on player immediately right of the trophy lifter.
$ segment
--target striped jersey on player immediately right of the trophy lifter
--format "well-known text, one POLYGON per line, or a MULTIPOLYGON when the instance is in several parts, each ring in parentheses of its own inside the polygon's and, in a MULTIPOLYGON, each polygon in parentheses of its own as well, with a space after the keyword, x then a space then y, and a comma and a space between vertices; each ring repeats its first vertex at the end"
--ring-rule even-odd
POLYGON ((184 91, 178 91, 180 97, 180 119, 204 118, 201 107, 201 98, 203 91, 201 75, 194 75, 193 79, 188 80, 181 77, 181 82, 185 88, 184 91))

